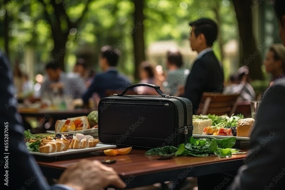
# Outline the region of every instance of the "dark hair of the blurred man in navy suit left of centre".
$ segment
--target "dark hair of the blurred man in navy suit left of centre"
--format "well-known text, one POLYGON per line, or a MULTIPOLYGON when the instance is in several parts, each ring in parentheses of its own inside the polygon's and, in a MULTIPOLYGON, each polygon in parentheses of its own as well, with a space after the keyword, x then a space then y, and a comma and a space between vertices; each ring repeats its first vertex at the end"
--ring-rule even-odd
POLYGON ((101 56, 105 57, 109 63, 109 66, 117 66, 121 52, 119 50, 114 50, 112 46, 104 46, 101 48, 101 56))

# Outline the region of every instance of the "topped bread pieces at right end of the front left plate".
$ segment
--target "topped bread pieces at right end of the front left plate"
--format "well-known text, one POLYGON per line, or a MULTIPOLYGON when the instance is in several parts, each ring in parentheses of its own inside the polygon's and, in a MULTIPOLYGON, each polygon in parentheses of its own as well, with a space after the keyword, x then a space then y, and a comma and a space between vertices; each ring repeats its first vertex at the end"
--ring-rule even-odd
POLYGON ((77 133, 73 136, 73 139, 69 145, 69 148, 80 149, 80 148, 92 148, 97 145, 98 139, 94 139, 93 136, 84 135, 77 133))

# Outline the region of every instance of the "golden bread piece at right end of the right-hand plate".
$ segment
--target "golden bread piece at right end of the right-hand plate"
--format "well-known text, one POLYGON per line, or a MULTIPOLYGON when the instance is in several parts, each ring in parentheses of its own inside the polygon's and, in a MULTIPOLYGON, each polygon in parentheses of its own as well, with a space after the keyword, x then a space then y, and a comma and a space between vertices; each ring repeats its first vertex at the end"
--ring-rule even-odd
POLYGON ((237 122, 237 136, 250 137, 254 122, 253 118, 240 119, 237 122))

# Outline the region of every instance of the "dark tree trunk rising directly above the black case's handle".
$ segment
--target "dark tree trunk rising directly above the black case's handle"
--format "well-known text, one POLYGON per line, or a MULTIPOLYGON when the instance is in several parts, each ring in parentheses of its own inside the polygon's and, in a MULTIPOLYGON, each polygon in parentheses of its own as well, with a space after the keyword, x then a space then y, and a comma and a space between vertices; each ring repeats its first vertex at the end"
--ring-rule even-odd
POLYGON ((134 0, 135 13, 134 13, 134 28, 133 28, 133 42, 135 53, 135 79, 139 79, 139 64, 145 60, 144 55, 144 26, 143 26, 143 0, 134 0))

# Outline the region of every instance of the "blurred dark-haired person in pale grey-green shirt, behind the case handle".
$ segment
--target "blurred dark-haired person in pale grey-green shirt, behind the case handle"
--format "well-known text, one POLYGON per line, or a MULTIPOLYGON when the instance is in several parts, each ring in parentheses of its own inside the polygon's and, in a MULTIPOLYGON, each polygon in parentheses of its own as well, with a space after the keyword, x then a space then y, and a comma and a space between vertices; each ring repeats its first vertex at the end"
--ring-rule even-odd
POLYGON ((177 49, 167 52, 166 67, 168 75, 164 82, 164 93, 171 96, 179 96, 178 87, 185 87, 187 77, 190 73, 189 69, 182 69, 183 61, 180 52, 177 49))

